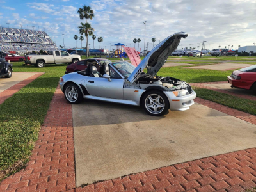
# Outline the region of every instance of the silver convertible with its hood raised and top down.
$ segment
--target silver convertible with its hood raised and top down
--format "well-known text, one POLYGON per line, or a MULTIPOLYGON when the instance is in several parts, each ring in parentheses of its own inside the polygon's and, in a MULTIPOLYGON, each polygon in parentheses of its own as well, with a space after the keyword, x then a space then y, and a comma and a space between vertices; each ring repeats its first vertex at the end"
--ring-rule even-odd
POLYGON ((185 111, 196 98, 191 86, 173 77, 157 76, 157 72, 178 47, 180 39, 187 36, 184 32, 168 36, 137 67, 118 61, 102 65, 97 71, 89 63, 86 70, 63 76, 60 88, 70 104, 77 104, 84 98, 103 100, 141 106, 152 116, 164 115, 169 109, 185 111))

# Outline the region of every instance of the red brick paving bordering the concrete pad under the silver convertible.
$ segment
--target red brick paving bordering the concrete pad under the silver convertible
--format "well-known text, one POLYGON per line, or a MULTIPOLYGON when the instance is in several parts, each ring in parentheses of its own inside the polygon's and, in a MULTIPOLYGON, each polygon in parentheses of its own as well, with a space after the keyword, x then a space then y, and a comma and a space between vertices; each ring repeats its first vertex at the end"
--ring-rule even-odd
MULTIPOLYGON (((236 110, 211 101, 198 98, 196 102, 228 115, 237 115, 236 110)), ((239 114, 237 118, 241 118, 240 111, 239 114)), ((243 115, 244 120, 250 120, 250 115, 243 115)), ((251 120, 251 123, 256 124, 254 120, 251 120)), ((234 192, 252 187, 256 187, 256 148, 206 157, 76 188, 72 106, 67 104, 59 87, 41 127, 28 166, 0 183, 0 191, 16 192, 234 192)))

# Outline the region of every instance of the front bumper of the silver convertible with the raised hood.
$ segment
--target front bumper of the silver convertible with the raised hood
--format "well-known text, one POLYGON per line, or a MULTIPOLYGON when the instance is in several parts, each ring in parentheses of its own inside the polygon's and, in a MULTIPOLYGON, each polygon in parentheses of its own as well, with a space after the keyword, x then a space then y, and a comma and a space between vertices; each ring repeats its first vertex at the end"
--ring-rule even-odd
POLYGON ((192 93, 182 97, 176 97, 172 92, 163 92, 170 103, 171 111, 186 111, 195 102, 193 99, 196 98, 196 92, 192 90, 192 93))

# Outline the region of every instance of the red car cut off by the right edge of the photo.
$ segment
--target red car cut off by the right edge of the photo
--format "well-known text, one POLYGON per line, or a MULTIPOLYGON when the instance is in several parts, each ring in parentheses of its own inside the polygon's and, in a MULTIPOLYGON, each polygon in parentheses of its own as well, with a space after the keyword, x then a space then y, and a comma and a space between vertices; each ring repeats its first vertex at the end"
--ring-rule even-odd
POLYGON ((228 83, 231 87, 253 90, 256 94, 256 65, 235 70, 228 76, 228 83))

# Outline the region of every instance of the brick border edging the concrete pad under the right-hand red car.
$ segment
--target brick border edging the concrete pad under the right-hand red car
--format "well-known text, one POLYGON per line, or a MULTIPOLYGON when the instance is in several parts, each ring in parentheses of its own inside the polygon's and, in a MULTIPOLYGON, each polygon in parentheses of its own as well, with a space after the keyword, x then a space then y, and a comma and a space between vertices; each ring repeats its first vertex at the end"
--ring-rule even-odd
POLYGON ((250 96, 250 95, 244 95, 244 94, 241 94, 241 93, 232 93, 232 92, 228 92, 228 91, 221 90, 221 89, 218 89, 218 88, 212 88, 211 86, 207 86, 207 84, 221 84, 221 83, 227 83, 227 81, 217 81, 217 82, 207 82, 207 83, 190 83, 190 85, 196 86, 198 88, 204 88, 204 89, 207 89, 207 90, 220 92, 220 93, 226 93, 228 95, 241 97, 243 99, 256 100, 256 97, 253 97, 253 96, 250 96))

